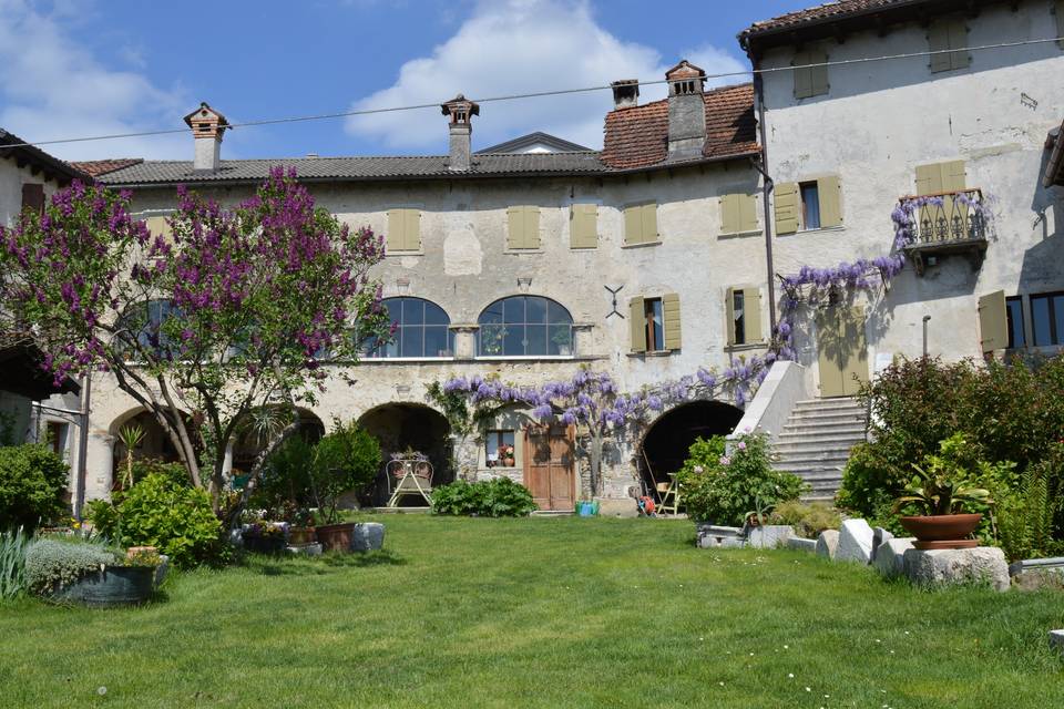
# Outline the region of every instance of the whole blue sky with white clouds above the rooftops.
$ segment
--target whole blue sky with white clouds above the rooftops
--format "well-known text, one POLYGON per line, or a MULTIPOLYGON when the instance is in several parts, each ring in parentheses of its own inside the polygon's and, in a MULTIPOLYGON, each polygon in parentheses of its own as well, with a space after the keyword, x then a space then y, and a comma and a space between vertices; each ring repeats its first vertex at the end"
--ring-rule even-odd
MULTIPOLYGON (((30 141, 745 69, 735 34, 811 0, 0 0, 0 127, 30 141), (675 7, 675 6, 673 6, 675 7)), ((661 88, 642 99, 659 97, 661 88)), ((543 130, 598 147, 608 91, 485 104, 474 148, 543 130)), ((439 111, 232 131, 223 157, 446 151, 439 111)), ((187 135, 48 146, 68 160, 187 158, 187 135)))

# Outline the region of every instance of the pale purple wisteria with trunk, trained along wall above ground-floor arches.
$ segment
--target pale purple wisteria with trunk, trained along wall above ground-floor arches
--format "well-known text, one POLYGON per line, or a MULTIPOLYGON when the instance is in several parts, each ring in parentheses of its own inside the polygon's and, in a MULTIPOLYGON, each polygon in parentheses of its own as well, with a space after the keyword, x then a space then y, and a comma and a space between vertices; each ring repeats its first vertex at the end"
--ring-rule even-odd
POLYGON ((699 369, 694 376, 634 393, 620 391, 605 372, 581 369, 572 379, 538 388, 514 387, 498 378, 459 377, 430 387, 430 397, 443 404, 450 418, 458 419, 452 427, 460 432, 483 428, 500 409, 511 404, 531 409, 532 417, 543 423, 582 427, 586 433, 580 444, 587 456, 591 493, 595 495, 602 491, 602 455, 607 439, 637 438, 655 413, 685 401, 730 395, 741 405, 765 379, 774 359, 769 353, 767 358, 736 360, 719 374, 699 369), (459 401, 468 407, 457 405, 459 401))

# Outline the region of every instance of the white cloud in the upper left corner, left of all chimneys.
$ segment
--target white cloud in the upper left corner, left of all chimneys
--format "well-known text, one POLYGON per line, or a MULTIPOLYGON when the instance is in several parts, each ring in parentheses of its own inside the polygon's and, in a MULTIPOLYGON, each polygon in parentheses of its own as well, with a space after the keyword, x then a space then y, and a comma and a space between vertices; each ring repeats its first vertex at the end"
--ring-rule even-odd
MULTIPOLYGON (((0 0, 0 127, 47 141, 180 127, 187 107, 136 71, 102 65, 70 34, 76 18, 58 3, 52 13, 23 0, 0 0)), ((186 135, 43 146, 64 160, 111 156, 185 157, 186 135)))

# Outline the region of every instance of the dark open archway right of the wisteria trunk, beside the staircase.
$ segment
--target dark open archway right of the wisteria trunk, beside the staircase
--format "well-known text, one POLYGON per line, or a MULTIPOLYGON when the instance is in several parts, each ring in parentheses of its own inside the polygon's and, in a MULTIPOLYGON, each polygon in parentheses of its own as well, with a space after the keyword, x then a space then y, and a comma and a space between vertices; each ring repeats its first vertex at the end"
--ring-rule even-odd
POLYGON ((668 473, 683 466, 695 439, 727 435, 741 418, 741 409, 723 401, 690 401, 659 415, 636 453, 644 487, 653 491, 655 483, 668 482, 668 473))

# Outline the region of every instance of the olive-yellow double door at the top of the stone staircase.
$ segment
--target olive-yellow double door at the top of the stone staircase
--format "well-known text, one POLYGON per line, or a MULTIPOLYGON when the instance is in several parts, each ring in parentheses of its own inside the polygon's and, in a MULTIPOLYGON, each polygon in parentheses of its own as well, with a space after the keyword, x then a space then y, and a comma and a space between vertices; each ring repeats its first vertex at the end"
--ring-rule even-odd
POLYGON ((862 308, 833 306, 817 316, 821 397, 852 397, 868 381, 862 308))

